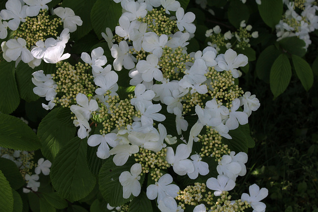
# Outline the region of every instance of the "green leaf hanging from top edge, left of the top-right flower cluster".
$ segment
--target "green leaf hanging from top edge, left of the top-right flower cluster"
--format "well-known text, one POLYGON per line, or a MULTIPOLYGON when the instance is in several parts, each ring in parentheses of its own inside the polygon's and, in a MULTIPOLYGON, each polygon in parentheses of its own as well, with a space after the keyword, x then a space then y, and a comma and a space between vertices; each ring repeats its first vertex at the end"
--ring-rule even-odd
POLYGON ((263 21, 271 28, 278 24, 283 14, 283 1, 281 0, 263 0, 258 5, 259 14, 263 21))

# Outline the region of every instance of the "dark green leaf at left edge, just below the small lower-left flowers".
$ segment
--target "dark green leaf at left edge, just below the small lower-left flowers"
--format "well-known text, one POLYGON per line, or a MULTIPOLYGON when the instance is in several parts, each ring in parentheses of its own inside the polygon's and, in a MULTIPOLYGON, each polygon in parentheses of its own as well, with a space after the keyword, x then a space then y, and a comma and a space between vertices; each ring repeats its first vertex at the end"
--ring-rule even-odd
POLYGON ((0 170, 4 174, 7 181, 9 181, 12 189, 17 190, 25 184, 18 167, 13 161, 1 157, 0 170))

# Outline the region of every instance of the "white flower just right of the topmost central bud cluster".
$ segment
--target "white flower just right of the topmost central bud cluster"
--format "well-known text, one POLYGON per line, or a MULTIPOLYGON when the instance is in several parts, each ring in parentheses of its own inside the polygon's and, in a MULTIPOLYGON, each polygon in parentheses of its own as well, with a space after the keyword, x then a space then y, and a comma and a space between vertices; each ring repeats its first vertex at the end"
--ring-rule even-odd
POLYGON ((187 12, 184 14, 184 9, 179 7, 175 13, 177 17, 177 27, 180 31, 184 29, 189 33, 194 33, 196 26, 192 23, 195 19, 195 14, 193 12, 187 12))

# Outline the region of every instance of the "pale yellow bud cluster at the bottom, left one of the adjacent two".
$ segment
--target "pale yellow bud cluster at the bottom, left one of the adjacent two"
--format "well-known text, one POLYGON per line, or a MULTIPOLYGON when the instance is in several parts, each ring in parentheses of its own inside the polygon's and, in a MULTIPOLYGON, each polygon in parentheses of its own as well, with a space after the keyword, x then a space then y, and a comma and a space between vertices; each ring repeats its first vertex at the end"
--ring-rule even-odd
POLYGON ((184 204, 192 206, 199 205, 203 200, 202 193, 205 192, 206 185, 204 183, 194 183, 194 186, 187 186, 183 191, 179 191, 178 196, 175 199, 180 201, 179 205, 184 210, 184 204))

